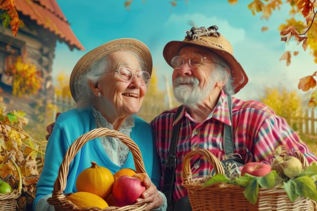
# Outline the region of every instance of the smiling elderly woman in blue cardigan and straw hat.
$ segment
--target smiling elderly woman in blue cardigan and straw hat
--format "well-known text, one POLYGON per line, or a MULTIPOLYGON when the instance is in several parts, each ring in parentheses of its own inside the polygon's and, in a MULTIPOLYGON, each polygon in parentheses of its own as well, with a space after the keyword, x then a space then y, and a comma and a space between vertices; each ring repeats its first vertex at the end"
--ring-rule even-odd
MULTIPOLYGON (((131 38, 109 41, 77 62, 69 83, 77 108, 62 113, 55 122, 46 149, 43 172, 37 183, 33 210, 54 210, 47 198, 52 193, 68 147, 79 136, 101 127, 122 132, 139 146, 151 180, 144 179, 147 189, 138 201, 148 202, 150 209, 166 209, 164 194, 156 190, 161 168, 151 128, 133 115, 142 105, 151 70, 152 58, 148 48, 141 41, 131 38)), ((129 148, 120 140, 112 137, 91 140, 81 148, 69 166, 65 193, 76 192, 76 178, 90 167, 92 160, 112 173, 121 168, 135 169, 129 148)))

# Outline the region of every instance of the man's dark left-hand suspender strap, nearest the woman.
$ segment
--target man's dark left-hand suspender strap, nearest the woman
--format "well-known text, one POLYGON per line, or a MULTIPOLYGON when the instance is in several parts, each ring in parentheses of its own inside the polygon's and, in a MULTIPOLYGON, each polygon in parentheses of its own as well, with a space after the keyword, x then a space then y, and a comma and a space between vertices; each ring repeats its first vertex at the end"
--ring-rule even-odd
MULTIPOLYGON (((183 106, 179 106, 175 114, 174 120, 179 116, 183 106)), ((167 211, 173 210, 173 188, 175 181, 175 167, 176 167, 176 148, 180 129, 180 121, 173 127, 172 139, 170 143, 169 156, 165 162, 165 175, 162 192, 167 198, 167 211)))

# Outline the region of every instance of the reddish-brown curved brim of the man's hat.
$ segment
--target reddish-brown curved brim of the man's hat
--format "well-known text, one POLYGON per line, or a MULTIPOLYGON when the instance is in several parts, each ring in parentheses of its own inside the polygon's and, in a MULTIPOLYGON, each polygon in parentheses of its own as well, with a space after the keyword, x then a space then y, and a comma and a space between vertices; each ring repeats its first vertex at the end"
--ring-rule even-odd
POLYGON ((242 68, 241 64, 228 52, 224 50, 219 50, 215 48, 208 47, 203 44, 194 43, 193 41, 170 41, 163 50, 163 56, 165 61, 171 66, 172 59, 178 55, 179 50, 185 46, 198 46, 204 49, 208 49, 214 53, 216 53, 219 57, 221 57, 229 66, 231 71, 231 77, 233 80, 232 87, 234 89, 234 93, 239 92, 244 86, 246 86, 248 82, 248 76, 242 68))

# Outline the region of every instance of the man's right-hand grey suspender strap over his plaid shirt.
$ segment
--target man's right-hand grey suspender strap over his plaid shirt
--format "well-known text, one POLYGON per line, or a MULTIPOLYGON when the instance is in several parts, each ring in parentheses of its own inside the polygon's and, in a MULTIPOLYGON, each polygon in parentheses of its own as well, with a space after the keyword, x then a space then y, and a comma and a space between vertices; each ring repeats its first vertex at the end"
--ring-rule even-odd
MULTIPOLYGON (((228 108, 229 108, 229 115, 230 115, 230 121, 232 125, 232 99, 231 96, 227 95, 227 101, 228 101, 228 108)), ((224 124, 224 131, 223 131, 223 137, 224 137, 224 152, 226 155, 233 154, 233 137, 232 137, 232 126, 228 124, 224 124)))

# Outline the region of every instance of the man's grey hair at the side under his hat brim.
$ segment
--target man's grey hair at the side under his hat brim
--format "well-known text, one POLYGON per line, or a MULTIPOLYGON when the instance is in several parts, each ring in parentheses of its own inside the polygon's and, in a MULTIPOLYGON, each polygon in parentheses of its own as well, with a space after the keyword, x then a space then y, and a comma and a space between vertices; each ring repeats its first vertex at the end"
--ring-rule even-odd
POLYGON ((230 71, 228 64, 214 52, 212 51, 209 51, 209 52, 212 56, 212 60, 215 62, 214 63, 215 71, 212 71, 211 76, 215 78, 215 81, 223 81, 226 78, 228 78, 225 86, 223 87, 223 91, 226 95, 229 95, 229 96, 234 95, 234 89, 232 87, 232 81, 233 81, 232 76, 231 74, 229 74, 227 71, 224 70, 224 68, 228 68, 230 71))

